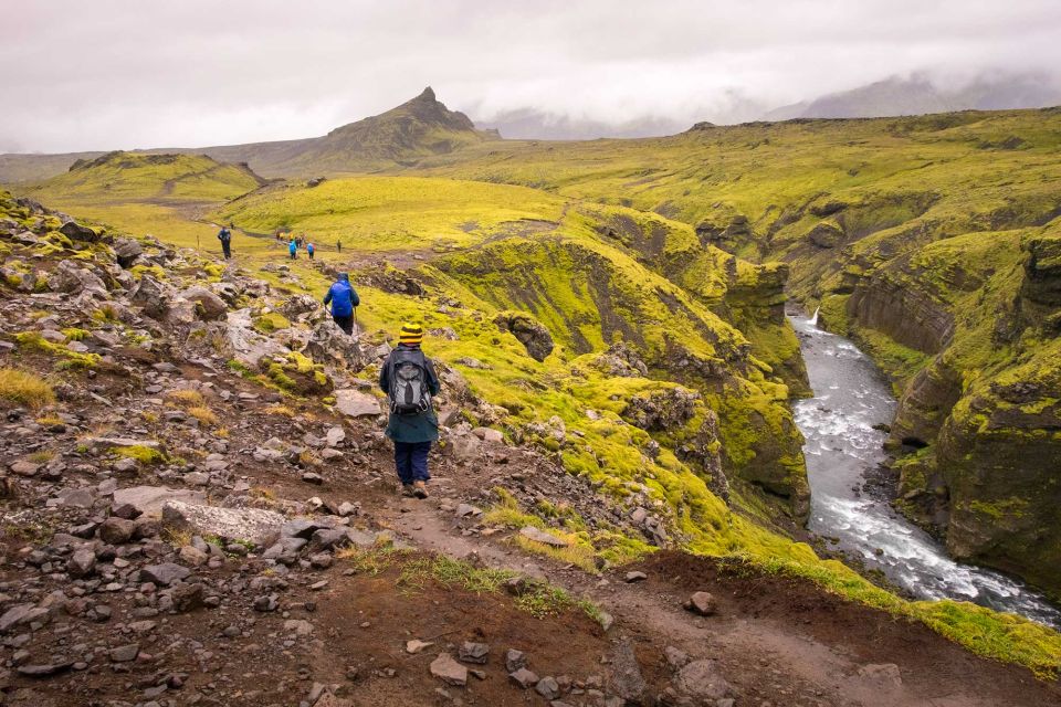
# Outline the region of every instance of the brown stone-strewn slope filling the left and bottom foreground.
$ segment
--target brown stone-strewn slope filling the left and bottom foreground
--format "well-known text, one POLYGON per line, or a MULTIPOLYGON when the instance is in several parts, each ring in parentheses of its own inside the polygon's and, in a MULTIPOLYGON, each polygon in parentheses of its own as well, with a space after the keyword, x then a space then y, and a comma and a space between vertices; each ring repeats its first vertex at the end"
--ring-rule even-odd
MULTIPOLYGON (((820 706, 851 695, 917 704, 925 689, 985 705, 1057 701, 1016 668, 753 566, 663 557, 612 573, 629 589, 605 591, 609 580, 564 569, 578 557, 560 551, 570 527, 521 507, 548 504, 584 531, 664 544, 662 509, 644 498, 631 513, 533 447, 451 415, 438 515, 399 504, 378 401, 350 372, 370 369, 382 341, 346 338, 315 302, 193 252, 115 238, 25 200, 2 205, 4 704, 820 706), (494 507, 484 515, 475 504, 494 507), (590 593, 596 582, 620 619, 535 579, 542 571, 527 563, 517 573, 475 555, 403 549, 393 530, 403 517, 414 518, 410 540, 445 536, 492 558, 511 550, 483 540, 515 524, 511 541, 544 553, 554 579, 590 593), (418 534, 439 518, 453 532, 418 534), (797 615, 763 604, 764 585, 797 615), (703 588, 725 595, 692 591, 703 588), (658 604, 666 609, 647 619, 658 604), (733 621, 713 619, 719 611, 733 621), (833 623, 838 611, 847 618, 833 623), (742 639, 764 612, 787 639, 742 639), (836 657, 817 671, 785 657, 803 621, 829 626, 812 645, 836 657), (852 643, 852 625, 870 626, 864 640, 852 643), (912 635, 913 653, 901 647, 912 635), (852 648, 864 664, 840 661, 852 648), (926 655, 957 677, 922 675, 926 655)), ((638 368, 621 348, 609 356, 638 368)), ((443 370, 443 405, 496 414, 443 370)))

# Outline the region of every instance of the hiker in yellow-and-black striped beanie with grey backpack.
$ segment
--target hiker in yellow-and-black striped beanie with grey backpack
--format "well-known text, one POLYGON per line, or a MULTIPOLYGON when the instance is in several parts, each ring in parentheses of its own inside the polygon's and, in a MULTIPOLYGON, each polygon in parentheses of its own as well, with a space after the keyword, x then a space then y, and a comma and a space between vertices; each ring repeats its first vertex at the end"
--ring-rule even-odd
POLYGON ((398 348, 379 371, 379 387, 390 402, 387 436, 395 442, 395 466, 401 479, 401 493, 428 497, 428 452, 439 439, 439 419, 431 397, 439 394, 434 363, 420 350, 423 328, 419 324, 401 327, 398 348))

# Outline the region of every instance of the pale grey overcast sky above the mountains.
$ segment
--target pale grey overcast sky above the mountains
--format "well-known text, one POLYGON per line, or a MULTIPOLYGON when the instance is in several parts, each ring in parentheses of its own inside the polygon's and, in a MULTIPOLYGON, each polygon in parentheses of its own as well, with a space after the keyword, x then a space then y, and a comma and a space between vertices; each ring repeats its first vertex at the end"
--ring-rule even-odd
POLYGON ((0 0, 0 152, 309 137, 431 85, 522 107, 725 119, 927 72, 1061 66, 1061 0, 0 0))

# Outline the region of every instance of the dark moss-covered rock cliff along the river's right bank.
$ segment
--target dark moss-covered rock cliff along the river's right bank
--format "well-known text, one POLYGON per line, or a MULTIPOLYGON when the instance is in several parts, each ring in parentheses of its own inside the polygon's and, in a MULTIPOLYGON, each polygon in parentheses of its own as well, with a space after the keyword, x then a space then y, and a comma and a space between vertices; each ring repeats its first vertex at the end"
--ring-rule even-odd
POLYGON ((855 278, 841 318, 885 366, 889 347, 923 355, 889 371, 897 505, 954 557, 1058 593, 1061 239, 954 241, 855 278))

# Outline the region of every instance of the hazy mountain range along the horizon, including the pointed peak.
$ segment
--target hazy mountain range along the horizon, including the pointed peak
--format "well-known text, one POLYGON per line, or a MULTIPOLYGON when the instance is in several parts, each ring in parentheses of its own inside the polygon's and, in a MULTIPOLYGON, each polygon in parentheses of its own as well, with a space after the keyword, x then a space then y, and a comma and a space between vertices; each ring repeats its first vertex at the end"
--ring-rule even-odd
MULTIPOLYGON (((703 117, 725 124, 749 119, 863 118, 1053 105, 1061 105, 1061 86, 1040 76, 980 78, 959 89, 941 88, 925 77, 914 76, 887 78, 765 113, 754 103, 738 102, 721 117, 703 117)), ((344 125, 322 137, 138 151, 208 155, 219 162, 246 163, 263 177, 309 177, 410 166, 426 157, 502 137, 554 140, 656 137, 681 133, 691 125, 664 117, 611 124, 522 108, 476 126, 463 113, 447 108, 428 87, 396 108, 344 125)), ((102 155, 105 152, 0 155, 0 183, 41 181, 66 171, 76 160, 92 160, 102 155)))

